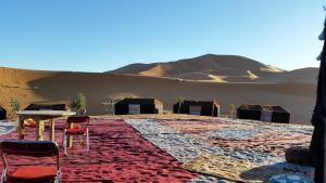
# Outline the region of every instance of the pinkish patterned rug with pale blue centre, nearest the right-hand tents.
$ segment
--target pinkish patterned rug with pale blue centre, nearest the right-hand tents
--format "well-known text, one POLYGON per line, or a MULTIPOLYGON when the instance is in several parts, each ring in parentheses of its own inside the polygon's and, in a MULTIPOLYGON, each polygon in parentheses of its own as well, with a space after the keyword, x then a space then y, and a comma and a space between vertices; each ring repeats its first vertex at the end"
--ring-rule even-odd
POLYGON ((160 122, 220 147, 268 154, 274 157, 284 157, 285 149, 291 146, 308 146, 312 135, 312 128, 308 126, 225 120, 160 122))

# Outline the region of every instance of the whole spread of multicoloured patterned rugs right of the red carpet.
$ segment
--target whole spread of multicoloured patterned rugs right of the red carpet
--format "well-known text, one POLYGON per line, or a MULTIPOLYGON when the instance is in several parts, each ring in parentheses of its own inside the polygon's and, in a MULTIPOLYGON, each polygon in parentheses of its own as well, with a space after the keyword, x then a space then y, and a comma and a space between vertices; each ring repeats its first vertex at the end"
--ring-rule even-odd
POLYGON ((222 119, 126 122, 190 171, 237 182, 265 182, 279 173, 313 178, 313 168, 285 161, 286 148, 309 145, 309 126, 222 119))

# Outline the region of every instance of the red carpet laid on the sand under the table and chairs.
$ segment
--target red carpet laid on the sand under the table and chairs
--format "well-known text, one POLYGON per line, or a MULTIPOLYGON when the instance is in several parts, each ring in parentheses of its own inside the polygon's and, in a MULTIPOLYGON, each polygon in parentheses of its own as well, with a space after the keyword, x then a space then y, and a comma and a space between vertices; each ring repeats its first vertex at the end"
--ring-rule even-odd
MULTIPOLYGON (((63 121, 57 122, 55 140, 61 145, 63 121)), ((79 146, 77 139, 61 155, 63 182, 186 182, 198 177, 179 168, 179 162, 141 138, 123 120, 91 119, 90 153, 79 146)), ((46 128, 45 139, 48 138, 46 128)), ((16 139, 15 132, 1 139, 16 139)), ((35 129, 26 130, 26 140, 35 139, 35 129)), ((62 151, 62 148, 61 148, 62 151)), ((11 157, 15 165, 41 164, 38 159, 11 157)), ((46 159, 45 164, 52 164, 46 159)), ((0 162, 2 171, 2 162, 0 162)))

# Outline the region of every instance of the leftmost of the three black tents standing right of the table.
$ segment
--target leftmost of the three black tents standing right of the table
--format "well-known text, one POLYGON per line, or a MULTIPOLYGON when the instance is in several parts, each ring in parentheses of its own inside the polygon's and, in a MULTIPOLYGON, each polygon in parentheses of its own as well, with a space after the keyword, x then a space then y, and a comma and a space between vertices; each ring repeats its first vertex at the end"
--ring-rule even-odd
POLYGON ((156 99, 124 99, 114 105, 115 115, 162 114, 163 103, 156 99))

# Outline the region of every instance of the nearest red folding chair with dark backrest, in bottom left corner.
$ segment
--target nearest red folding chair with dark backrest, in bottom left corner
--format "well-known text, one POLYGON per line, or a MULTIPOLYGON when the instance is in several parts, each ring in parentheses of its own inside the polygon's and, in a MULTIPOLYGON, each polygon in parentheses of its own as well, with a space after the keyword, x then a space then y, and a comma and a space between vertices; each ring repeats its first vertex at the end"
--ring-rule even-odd
MULTIPOLYGON (((0 144, 3 170, 1 183, 22 182, 60 182, 60 160, 58 144, 52 141, 16 141, 4 140, 0 144), (11 171, 8 164, 8 155, 28 156, 37 158, 54 157, 57 165, 45 166, 18 166, 11 171)), ((16 161, 15 164, 18 164, 16 161)))

